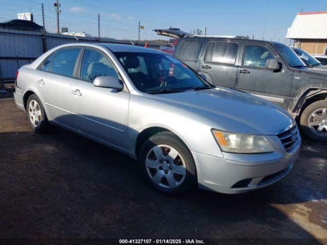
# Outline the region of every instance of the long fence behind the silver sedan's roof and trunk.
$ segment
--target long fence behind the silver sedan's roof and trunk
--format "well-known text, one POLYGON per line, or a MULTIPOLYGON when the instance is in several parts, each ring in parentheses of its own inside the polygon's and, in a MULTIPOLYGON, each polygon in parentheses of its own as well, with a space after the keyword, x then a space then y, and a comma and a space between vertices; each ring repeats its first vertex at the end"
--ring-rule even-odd
MULTIPOLYGON (((44 52, 65 43, 73 42, 105 42, 134 45, 130 40, 113 38, 77 37, 61 34, 28 32, 0 29, 0 90, 8 90, 5 84, 15 81, 16 71, 22 65, 33 62, 44 52)), ((144 42, 135 45, 144 46, 144 42)), ((148 47, 160 49, 157 43, 148 42, 148 47)), ((161 45, 162 47, 162 45, 161 45)))

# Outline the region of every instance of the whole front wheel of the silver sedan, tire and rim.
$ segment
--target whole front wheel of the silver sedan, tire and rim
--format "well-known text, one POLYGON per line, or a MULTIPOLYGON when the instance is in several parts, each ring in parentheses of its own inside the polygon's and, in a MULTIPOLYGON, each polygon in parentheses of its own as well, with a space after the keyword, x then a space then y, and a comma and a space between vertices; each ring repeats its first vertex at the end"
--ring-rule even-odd
POLYGON ((190 150, 173 133, 151 136, 138 157, 148 184, 167 194, 178 194, 196 186, 195 163, 190 150))

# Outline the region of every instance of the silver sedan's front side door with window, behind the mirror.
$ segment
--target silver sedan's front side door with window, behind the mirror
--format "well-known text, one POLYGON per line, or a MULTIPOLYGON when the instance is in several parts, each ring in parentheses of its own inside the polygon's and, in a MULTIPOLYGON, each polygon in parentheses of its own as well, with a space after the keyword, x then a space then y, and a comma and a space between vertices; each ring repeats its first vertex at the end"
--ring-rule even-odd
POLYGON ((86 48, 71 86, 74 128, 94 139, 127 149, 130 94, 95 87, 93 82, 100 76, 120 78, 109 57, 94 48, 86 48))

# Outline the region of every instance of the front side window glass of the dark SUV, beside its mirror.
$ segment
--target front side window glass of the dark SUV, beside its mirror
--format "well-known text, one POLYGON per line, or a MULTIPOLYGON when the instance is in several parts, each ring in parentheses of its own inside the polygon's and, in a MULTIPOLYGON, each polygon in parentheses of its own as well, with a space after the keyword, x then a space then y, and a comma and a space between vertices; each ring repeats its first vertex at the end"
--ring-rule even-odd
POLYGON ((275 59, 268 48, 260 45, 246 45, 243 65, 254 67, 266 67, 268 59, 275 59))

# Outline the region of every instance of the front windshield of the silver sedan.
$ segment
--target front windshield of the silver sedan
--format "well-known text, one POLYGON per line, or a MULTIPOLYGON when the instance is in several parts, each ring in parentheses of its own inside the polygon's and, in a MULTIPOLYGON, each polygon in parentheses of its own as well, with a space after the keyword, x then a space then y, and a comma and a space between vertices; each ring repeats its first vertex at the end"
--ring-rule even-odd
POLYGON ((174 93, 213 87, 170 55, 136 52, 115 52, 114 55, 142 92, 174 93))

